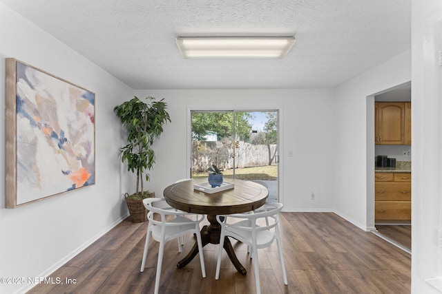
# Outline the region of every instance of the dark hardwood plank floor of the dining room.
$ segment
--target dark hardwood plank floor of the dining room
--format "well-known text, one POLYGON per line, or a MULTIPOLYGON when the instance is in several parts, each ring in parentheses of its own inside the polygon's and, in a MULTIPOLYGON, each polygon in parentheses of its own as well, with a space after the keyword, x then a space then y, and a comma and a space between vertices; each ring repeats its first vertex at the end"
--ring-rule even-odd
MULTIPOLYGON (((153 293, 157 242, 152 242, 140 273, 146 226, 124 220, 52 273, 63 284, 39 284, 28 293, 153 293), (67 284, 66 278, 75 284, 67 284)), ((273 243, 258 251, 262 293, 410 293, 410 254, 334 213, 282 213, 280 231, 289 284, 282 280, 273 243)), ((177 269, 193 240, 192 235, 186 238, 182 253, 176 241, 166 244, 160 293, 255 293, 246 246, 234 240, 247 275, 240 275, 224 253, 220 280, 215 280, 218 245, 213 244, 204 247, 206 278, 198 256, 177 269)))

